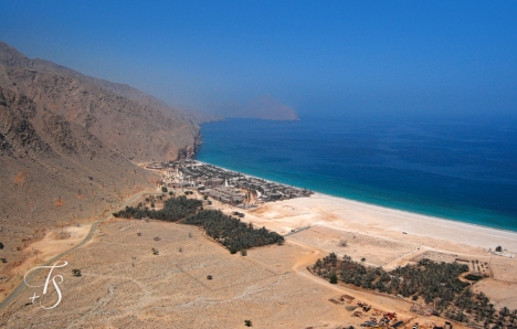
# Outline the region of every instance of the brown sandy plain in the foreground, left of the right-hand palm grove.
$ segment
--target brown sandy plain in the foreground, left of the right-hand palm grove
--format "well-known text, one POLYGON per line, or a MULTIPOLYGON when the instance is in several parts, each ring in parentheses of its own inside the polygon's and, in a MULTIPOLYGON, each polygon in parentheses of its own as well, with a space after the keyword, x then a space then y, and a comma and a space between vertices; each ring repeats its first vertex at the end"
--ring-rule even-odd
MULTIPOLYGON (((2 311, 0 326, 243 328, 246 319, 257 328, 357 326, 365 319, 351 317, 347 304, 329 301, 344 294, 370 300, 381 312, 397 311, 401 319, 411 319, 411 315, 402 315, 408 314, 410 303, 372 298, 308 273, 306 266, 326 252, 296 241, 250 250, 247 256, 241 256, 230 255, 192 226, 117 220, 101 229, 87 247, 63 259, 68 266, 55 269, 63 276, 63 299, 56 308, 30 304, 34 293, 42 294, 28 288, 2 311), (152 247, 158 255, 151 253, 152 247), (81 277, 72 275, 74 268, 82 270, 81 277), (208 275, 213 278, 209 280, 208 275)), ((43 306, 57 300, 55 290, 50 290, 43 306)), ((425 318, 420 322, 431 320, 442 321, 425 318)))

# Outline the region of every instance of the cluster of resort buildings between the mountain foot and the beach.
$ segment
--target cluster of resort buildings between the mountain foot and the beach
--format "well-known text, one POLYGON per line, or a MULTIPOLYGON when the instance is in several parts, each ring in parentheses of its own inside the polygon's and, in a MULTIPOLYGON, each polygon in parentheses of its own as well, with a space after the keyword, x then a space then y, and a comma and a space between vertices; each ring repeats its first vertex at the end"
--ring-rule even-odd
POLYGON ((244 208, 313 194, 306 189, 265 181, 190 159, 154 163, 147 168, 163 170, 166 174, 161 183, 167 188, 193 188, 214 200, 244 208))

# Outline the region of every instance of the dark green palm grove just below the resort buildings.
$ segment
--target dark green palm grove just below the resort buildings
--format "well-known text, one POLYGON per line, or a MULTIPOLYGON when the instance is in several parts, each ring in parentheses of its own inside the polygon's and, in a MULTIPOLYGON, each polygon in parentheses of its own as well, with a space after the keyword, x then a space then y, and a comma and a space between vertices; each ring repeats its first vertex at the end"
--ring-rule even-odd
POLYGON ((136 208, 126 206, 113 214, 115 217, 144 219, 180 222, 204 229, 207 234, 225 246, 232 254, 268 244, 284 243, 284 236, 265 227, 255 229, 251 223, 223 214, 218 210, 203 210, 202 202, 184 195, 170 198, 163 209, 155 210, 139 203, 136 208))

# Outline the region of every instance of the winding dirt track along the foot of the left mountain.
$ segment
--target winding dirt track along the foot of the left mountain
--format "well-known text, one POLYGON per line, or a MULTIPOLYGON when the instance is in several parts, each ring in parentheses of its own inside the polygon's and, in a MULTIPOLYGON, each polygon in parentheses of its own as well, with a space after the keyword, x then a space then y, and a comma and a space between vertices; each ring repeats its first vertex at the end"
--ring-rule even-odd
MULTIPOLYGON (((133 194, 129 199, 127 199, 123 204, 120 204, 120 208, 119 209, 123 209, 125 208, 126 205, 133 203, 137 198, 141 197, 143 194, 146 194, 146 193, 152 193, 152 192, 156 192, 156 191, 150 191, 150 190, 145 190, 145 191, 140 191, 138 193, 135 193, 133 194)), ((89 240, 92 240, 93 235, 95 234, 95 230, 97 230, 97 226, 112 217, 112 213, 107 214, 104 219, 101 219, 98 221, 96 221, 95 223, 93 223, 92 227, 89 227, 89 232, 88 232, 88 235, 86 235, 84 237, 84 240, 77 244, 76 246, 59 254, 57 256, 54 256, 53 258, 51 258, 50 261, 45 262, 45 264, 42 264, 40 266, 49 266, 53 263, 55 263, 56 261, 59 261, 61 257, 64 257, 66 255, 70 255, 72 254, 73 252, 75 252, 76 250, 78 250, 80 247, 82 247, 83 245, 85 245, 86 243, 89 242, 89 240)), ((35 269, 33 270, 28 277, 27 277, 27 282, 29 283, 32 278, 34 278, 38 274, 40 274, 42 269, 35 269)), ((14 288, 14 290, 12 290, 12 293, 2 301, 0 303, 0 310, 2 310, 6 306, 8 306, 14 298, 18 297, 18 295, 20 295, 21 291, 23 291, 23 289, 25 288, 25 283, 24 282, 21 282, 18 287, 14 288)))

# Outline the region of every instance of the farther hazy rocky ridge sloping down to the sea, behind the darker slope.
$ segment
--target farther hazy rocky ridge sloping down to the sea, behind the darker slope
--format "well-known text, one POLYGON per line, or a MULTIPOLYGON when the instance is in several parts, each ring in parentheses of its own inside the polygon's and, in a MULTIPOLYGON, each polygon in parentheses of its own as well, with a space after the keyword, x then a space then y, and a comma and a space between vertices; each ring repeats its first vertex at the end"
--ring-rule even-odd
POLYGON ((32 99, 40 113, 86 128, 134 161, 175 159, 192 147, 199 128, 182 112, 127 85, 29 60, 0 43, 0 85, 32 99))

